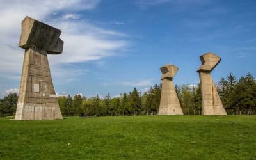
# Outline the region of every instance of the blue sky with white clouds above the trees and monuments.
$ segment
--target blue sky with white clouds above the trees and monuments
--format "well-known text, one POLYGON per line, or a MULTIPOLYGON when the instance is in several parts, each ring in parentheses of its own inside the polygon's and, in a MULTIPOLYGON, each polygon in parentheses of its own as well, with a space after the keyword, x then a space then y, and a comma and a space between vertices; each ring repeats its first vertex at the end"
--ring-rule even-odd
POLYGON ((0 97, 19 93, 26 15, 62 31, 63 53, 48 56, 57 95, 145 92, 166 63, 179 67, 175 84, 195 85, 207 52, 221 57, 216 83, 256 77, 254 0, 1 0, 0 15, 0 97))

